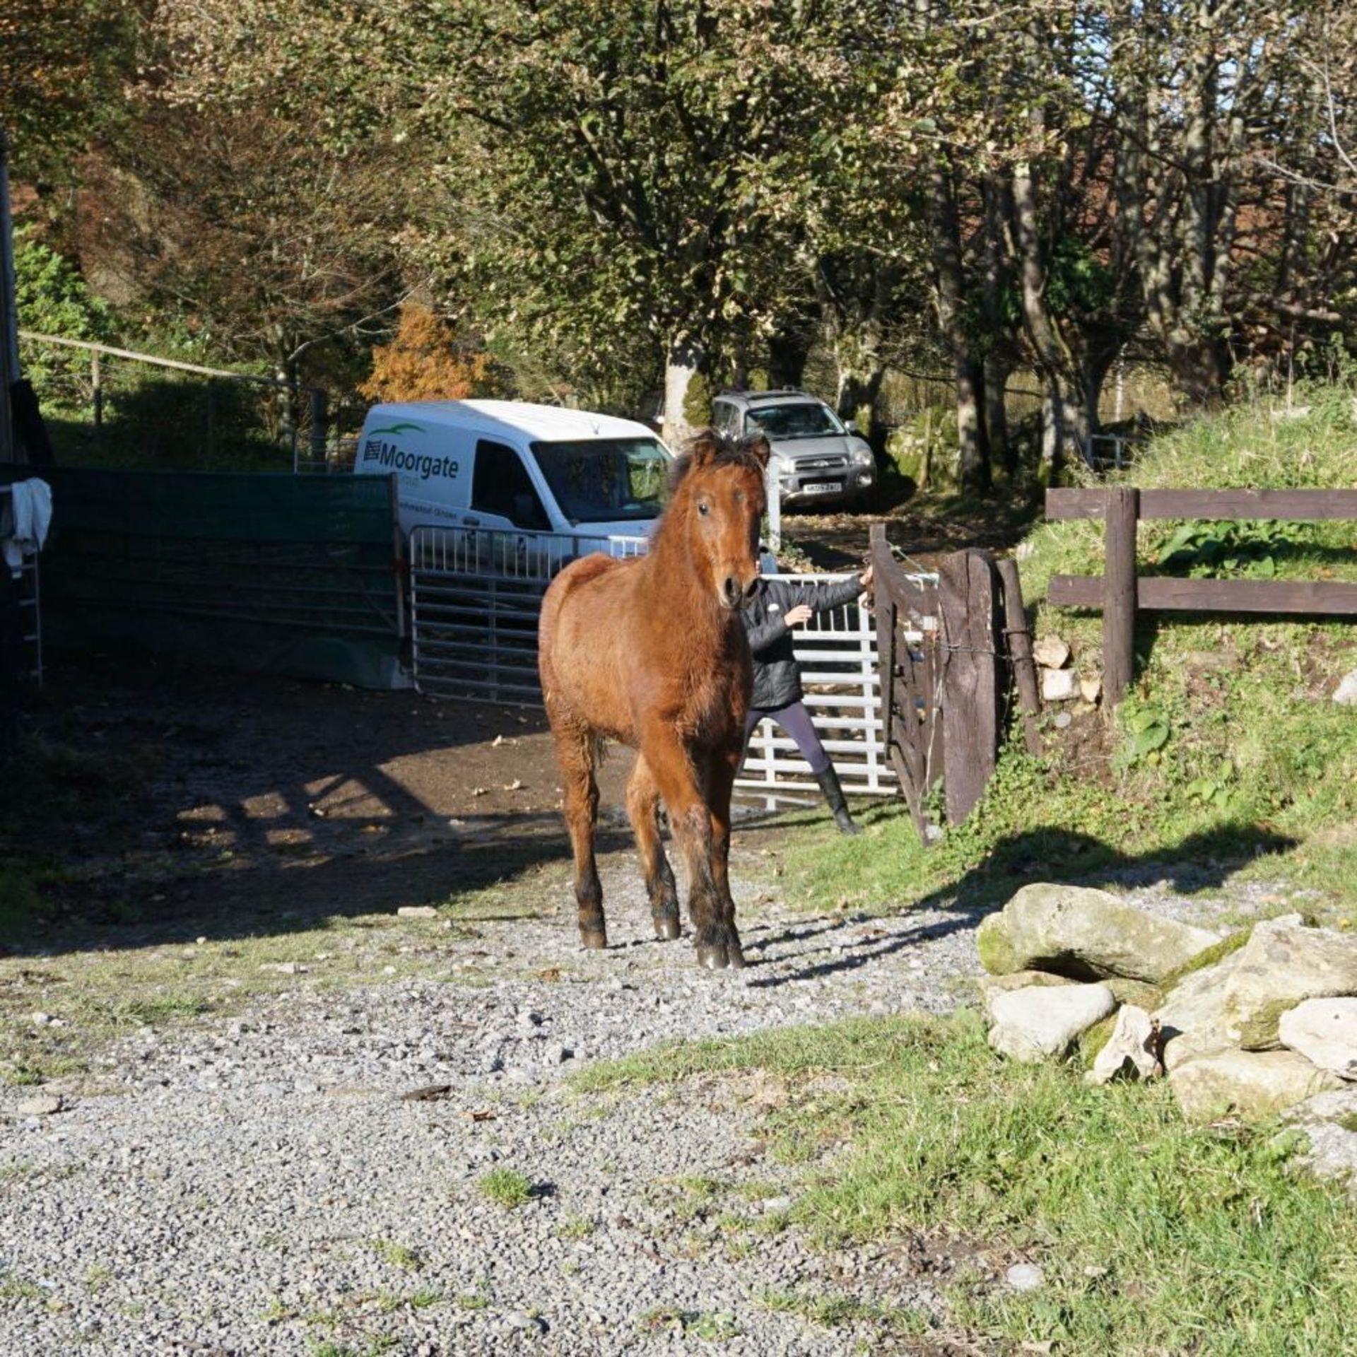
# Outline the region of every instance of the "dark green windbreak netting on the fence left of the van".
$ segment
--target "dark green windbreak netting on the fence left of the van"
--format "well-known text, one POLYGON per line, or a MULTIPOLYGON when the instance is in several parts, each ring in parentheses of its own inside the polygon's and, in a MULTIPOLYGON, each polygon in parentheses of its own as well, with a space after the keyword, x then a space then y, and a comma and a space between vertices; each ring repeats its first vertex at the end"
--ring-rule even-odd
POLYGON ((400 681, 391 479, 76 468, 43 479, 43 624, 56 643, 400 681))

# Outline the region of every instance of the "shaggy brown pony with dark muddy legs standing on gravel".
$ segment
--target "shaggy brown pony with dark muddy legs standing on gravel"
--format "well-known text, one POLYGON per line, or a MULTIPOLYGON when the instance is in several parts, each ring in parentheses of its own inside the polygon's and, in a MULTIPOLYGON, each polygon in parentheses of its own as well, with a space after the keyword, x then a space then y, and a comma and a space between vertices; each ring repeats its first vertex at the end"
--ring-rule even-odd
POLYGON ((594 763, 601 742, 617 740, 636 750, 627 814, 655 936, 680 935, 657 822, 664 798, 688 870, 697 961, 714 970, 745 963, 726 863, 752 683, 740 609, 759 578, 767 464, 761 436, 737 442, 710 429, 696 434, 670 472, 669 506, 649 555, 585 556, 543 600, 537 664, 565 779, 585 947, 608 944, 594 864, 594 763))

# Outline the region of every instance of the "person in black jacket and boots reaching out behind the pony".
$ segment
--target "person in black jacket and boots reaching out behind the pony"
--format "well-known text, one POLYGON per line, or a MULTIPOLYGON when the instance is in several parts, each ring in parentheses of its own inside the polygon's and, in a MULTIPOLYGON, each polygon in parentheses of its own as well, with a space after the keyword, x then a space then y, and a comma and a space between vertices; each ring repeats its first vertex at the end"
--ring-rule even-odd
POLYGON ((741 613, 754 661, 754 691, 745 718, 745 742, 764 716, 776 721, 797 741, 802 759, 810 764, 829 802, 835 824, 845 835, 858 833, 858 826, 848 814, 835 765, 801 700, 801 668, 791 653, 791 632, 817 612, 852 603, 870 588, 870 566, 856 579, 825 585, 798 585, 764 577, 741 613))

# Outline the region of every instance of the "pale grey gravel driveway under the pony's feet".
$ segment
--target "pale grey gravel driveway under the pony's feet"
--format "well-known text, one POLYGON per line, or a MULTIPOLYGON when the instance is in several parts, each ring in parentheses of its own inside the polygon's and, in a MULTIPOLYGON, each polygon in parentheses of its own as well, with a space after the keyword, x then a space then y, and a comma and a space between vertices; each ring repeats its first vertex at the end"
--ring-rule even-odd
MULTIPOLYGON (((749 969, 711 974, 649 936, 630 855, 603 866, 607 953, 577 950, 563 904, 480 925, 446 982, 142 1029, 109 1054, 106 1096, 54 1115, 18 1115, 33 1090, 5 1090, 0 1352, 837 1353, 851 1330, 760 1293, 837 1278, 928 1304, 889 1258, 760 1228, 790 1205, 757 1140, 776 1090, 586 1096, 566 1076, 670 1037, 946 1010, 976 970, 973 921, 765 902, 749 969), (402 1098, 427 1086, 448 1088, 402 1098), (495 1167, 532 1200, 487 1200, 495 1167)), ((757 896, 738 867, 735 885, 757 896)))

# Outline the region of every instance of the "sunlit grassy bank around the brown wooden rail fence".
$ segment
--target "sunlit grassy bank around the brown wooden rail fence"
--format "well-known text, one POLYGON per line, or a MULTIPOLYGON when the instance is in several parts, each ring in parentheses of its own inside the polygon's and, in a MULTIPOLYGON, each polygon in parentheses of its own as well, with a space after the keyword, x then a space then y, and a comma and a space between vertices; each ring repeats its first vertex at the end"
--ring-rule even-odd
MULTIPOLYGON (((1345 388, 1305 396, 1304 417, 1242 407, 1152 444, 1137 486, 1349 487, 1357 410, 1345 388)), ((1141 525, 1143 573, 1357 579, 1357 524, 1141 525)), ((1053 608, 1056 573, 1102 573, 1102 525, 1050 522, 1019 551, 1038 635, 1058 635, 1080 674, 1101 670, 1101 617, 1053 608)), ((1016 745, 965 825, 931 849, 898 810, 868 811, 858 841, 803 835, 792 898, 897 908, 932 893, 999 897, 1042 875, 1189 863, 1219 881, 1289 881, 1337 916, 1357 905, 1357 718, 1331 700, 1357 668, 1348 622, 1144 616, 1133 692, 1107 721, 1048 725, 1048 756, 1016 745)))

